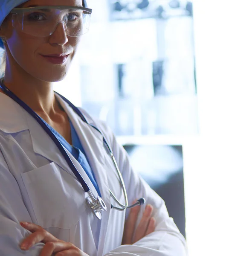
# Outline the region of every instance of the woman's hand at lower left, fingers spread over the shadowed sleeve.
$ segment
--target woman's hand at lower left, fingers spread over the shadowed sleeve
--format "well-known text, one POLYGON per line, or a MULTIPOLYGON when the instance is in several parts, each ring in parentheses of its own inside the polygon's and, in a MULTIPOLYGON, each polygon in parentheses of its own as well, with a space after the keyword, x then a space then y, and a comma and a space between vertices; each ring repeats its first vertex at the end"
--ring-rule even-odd
POLYGON ((42 242, 45 246, 41 250, 40 256, 88 256, 75 245, 57 239, 38 225, 28 222, 20 222, 20 224, 32 232, 20 245, 22 250, 29 250, 33 245, 42 242))

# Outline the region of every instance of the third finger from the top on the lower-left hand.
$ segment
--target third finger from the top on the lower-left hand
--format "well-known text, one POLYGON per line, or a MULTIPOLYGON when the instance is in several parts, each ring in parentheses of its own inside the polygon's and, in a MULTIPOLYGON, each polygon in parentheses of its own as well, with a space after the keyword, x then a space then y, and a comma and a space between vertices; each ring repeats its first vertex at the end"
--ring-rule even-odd
MULTIPOLYGON (((51 256, 54 253, 62 252, 65 250, 73 249, 74 245, 71 243, 63 243, 58 241, 48 242, 45 244, 39 256, 51 256)), ((65 255, 65 254, 63 254, 65 255)))

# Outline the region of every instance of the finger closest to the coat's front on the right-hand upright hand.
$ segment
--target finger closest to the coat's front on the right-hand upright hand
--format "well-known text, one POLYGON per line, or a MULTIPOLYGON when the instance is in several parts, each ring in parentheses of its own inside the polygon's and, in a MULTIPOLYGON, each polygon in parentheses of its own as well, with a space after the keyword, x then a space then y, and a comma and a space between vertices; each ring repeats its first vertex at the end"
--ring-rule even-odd
MULTIPOLYGON (((136 201, 133 202, 133 204, 136 201)), ((139 214, 140 206, 130 209, 127 221, 125 221, 125 230, 123 234, 122 244, 132 244, 133 233, 136 227, 136 220, 139 214)))

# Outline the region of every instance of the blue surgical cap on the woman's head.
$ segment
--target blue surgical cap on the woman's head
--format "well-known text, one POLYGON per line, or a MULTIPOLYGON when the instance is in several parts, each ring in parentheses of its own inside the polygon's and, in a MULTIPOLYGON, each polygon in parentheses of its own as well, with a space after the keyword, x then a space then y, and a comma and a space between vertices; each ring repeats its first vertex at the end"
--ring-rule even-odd
MULTIPOLYGON (((28 2, 28 0, 0 0, 0 26, 3 20, 9 15, 10 11, 19 6, 22 3, 28 2)), ((86 0, 83 0, 83 4, 87 7, 86 0)), ((3 47, 3 41, 0 39, 0 47, 3 47)))

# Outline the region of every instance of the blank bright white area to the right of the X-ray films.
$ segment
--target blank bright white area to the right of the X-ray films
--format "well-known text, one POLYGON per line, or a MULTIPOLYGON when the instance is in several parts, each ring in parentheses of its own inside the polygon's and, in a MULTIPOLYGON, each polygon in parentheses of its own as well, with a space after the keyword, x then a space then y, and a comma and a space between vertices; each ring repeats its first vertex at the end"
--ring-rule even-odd
POLYGON ((190 256, 252 255, 251 7, 194 0, 200 136, 184 145, 190 256))

